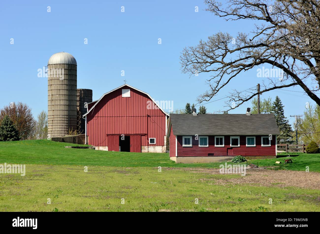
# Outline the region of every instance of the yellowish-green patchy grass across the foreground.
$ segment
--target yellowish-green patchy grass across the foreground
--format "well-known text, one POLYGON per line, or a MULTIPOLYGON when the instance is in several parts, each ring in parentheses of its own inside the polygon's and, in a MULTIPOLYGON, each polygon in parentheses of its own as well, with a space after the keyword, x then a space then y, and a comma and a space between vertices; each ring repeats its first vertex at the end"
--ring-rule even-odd
MULTIPOLYGON (((250 175, 248 175, 250 176, 250 175)), ((182 169, 26 165, 0 176, 1 211, 320 211, 319 190, 232 184, 182 169), (218 181, 223 184, 217 184, 218 181), (51 204, 48 203, 50 199, 51 204), (198 204, 196 204, 198 199, 198 204), (272 199, 272 204, 269 204, 272 199), (121 201, 124 200, 124 204, 121 201)))

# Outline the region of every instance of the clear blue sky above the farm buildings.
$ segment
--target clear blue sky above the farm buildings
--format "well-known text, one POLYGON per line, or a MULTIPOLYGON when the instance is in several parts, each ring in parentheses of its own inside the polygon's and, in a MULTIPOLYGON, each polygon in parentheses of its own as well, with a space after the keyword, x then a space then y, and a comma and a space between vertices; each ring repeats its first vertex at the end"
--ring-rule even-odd
MULTIPOLYGON (((155 100, 172 100, 173 109, 195 103, 207 89, 205 81, 210 74, 192 78, 182 74, 182 49, 218 32, 236 36, 253 26, 250 21, 226 22, 204 9, 202 0, 5 1, 0 9, 0 107, 21 101, 35 116, 47 110, 47 79, 39 78, 37 70, 60 51, 76 58, 78 88, 92 89, 94 100, 126 79, 155 100), (47 12, 48 6, 51 12, 47 12), (14 44, 10 44, 11 38, 14 44), (121 76, 122 70, 125 76, 121 76)), ((262 83, 262 78, 257 78, 256 71, 242 73, 214 99, 257 83, 262 83)), ((302 91, 300 87, 286 90, 302 91)), ((302 114, 306 102, 314 105, 302 92, 271 91, 261 98, 274 100, 276 95, 285 105, 286 116, 302 114)), ((217 112, 224 109, 225 100, 205 106, 208 112, 217 112)), ((244 104, 229 113, 245 113, 250 106, 244 104)))

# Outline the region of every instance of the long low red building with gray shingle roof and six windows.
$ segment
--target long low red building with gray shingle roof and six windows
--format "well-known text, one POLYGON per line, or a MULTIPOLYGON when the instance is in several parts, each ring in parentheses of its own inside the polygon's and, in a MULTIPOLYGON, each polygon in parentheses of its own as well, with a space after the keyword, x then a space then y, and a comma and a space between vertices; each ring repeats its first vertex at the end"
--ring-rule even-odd
POLYGON ((273 114, 170 114, 170 159, 214 162, 236 155, 275 158, 279 129, 273 114))

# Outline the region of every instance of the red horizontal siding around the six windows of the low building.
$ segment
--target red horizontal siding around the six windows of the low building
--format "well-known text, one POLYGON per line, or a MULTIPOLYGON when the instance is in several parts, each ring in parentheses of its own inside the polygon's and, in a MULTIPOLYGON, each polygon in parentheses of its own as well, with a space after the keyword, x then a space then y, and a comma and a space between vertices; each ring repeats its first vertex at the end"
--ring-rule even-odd
MULTIPOLYGON (((252 135, 254 136, 254 135, 252 135)), ((268 136, 268 135, 267 135, 268 136)), ((171 136, 170 136, 171 137, 171 136)), ((256 146, 246 146, 246 136, 240 136, 240 147, 230 147, 230 136, 224 136, 224 147, 214 146, 214 136, 208 136, 209 147, 199 147, 199 141, 192 136, 192 147, 182 147, 182 136, 177 136, 178 157, 183 156, 227 156, 227 148, 233 149, 233 155, 276 156, 276 136, 272 136, 271 146, 261 146, 261 135, 256 137, 256 146)))

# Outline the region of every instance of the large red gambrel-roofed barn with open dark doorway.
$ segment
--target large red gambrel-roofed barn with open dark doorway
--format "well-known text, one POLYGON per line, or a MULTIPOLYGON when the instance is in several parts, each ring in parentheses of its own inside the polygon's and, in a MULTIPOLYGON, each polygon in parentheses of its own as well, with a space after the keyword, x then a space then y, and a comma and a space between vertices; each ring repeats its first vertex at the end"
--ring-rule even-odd
POLYGON ((96 149, 165 152, 169 116, 148 93, 124 84, 87 108, 87 143, 96 149))

